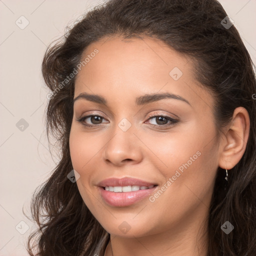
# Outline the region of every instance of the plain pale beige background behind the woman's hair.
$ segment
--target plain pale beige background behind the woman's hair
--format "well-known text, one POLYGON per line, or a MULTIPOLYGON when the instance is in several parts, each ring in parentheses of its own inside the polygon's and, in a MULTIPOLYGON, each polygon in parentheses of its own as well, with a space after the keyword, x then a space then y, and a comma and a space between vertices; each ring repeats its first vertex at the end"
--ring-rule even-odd
MULTIPOLYGON (((45 136, 43 53, 67 24, 100 2, 103 0, 0 0, 0 256, 28 255, 23 243, 33 223, 23 215, 22 206, 27 212, 33 190, 57 162, 57 155, 50 156, 45 136), (21 29, 25 22, 29 24, 21 29), (16 126, 21 118, 28 123, 23 131, 16 126)), ((256 63, 256 1, 220 2, 256 63)))

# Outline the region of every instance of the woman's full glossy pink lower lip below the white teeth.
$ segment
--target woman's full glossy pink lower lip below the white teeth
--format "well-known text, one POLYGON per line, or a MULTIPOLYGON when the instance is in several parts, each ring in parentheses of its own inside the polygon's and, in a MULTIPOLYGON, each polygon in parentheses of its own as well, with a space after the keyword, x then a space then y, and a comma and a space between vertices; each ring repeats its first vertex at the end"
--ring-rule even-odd
POLYGON ((151 194, 156 186, 147 189, 139 189, 137 191, 130 192, 111 192, 105 190, 103 187, 98 187, 103 200, 111 206, 128 206, 133 204, 151 194))

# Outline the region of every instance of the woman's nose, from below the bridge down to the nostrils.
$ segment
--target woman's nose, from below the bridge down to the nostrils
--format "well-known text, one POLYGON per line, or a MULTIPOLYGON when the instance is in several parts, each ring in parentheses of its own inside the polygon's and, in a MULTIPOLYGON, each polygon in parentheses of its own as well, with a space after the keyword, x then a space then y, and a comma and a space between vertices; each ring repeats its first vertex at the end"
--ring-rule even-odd
POLYGON ((122 166, 136 164, 142 160, 142 143, 130 127, 123 131, 117 125, 104 147, 104 160, 108 164, 122 166))

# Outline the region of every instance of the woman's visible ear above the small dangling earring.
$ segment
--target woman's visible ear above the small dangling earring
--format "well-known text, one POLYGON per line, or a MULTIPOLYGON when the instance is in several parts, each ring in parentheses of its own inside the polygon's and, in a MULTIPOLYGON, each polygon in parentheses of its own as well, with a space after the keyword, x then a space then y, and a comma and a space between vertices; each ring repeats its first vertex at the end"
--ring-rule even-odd
POLYGON ((244 107, 234 109, 232 120, 221 137, 219 167, 231 169, 241 159, 249 136, 249 114, 244 107))

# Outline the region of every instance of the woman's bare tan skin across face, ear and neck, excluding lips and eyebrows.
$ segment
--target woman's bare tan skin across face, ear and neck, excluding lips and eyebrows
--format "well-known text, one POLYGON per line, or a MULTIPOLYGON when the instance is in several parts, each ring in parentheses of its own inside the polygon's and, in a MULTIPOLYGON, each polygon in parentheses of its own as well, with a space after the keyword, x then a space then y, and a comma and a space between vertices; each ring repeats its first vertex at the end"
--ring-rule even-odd
MULTIPOLYGON (((82 92, 99 94, 107 104, 86 99, 74 102, 69 137, 73 168, 79 173, 79 192, 95 218, 110 233, 105 256, 206 255, 207 216, 218 166, 232 168, 242 157, 248 138, 247 111, 236 108, 233 119, 217 139, 213 97, 195 80, 192 62, 151 38, 123 40, 119 36, 94 42, 98 53, 78 72, 74 98, 82 92), (182 71, 174 80, 173 67, 182 71), (165 98, 135 105, 146 93, 169 92, 188 102, 165 98), (101 115, 101 126, 89 117, 101 115), (179 121, 165 125, 149 114, 179 121), (126 118, 127 131, 118 123, 126 118), (162 123, 162 124, 161 124, 162 123), (156 127, 154 125, 162 125, 156 127), (108 177, 134 177, 166 184, 176 170, 200 152, 189 167, 153 202, 148 197, 126 207, 114 207, 101 198, 96 184, 108 177), (130 229, 118 226, 126 221, 130 229)), ((82 57, 83 59, 83 57, 82 57)))

